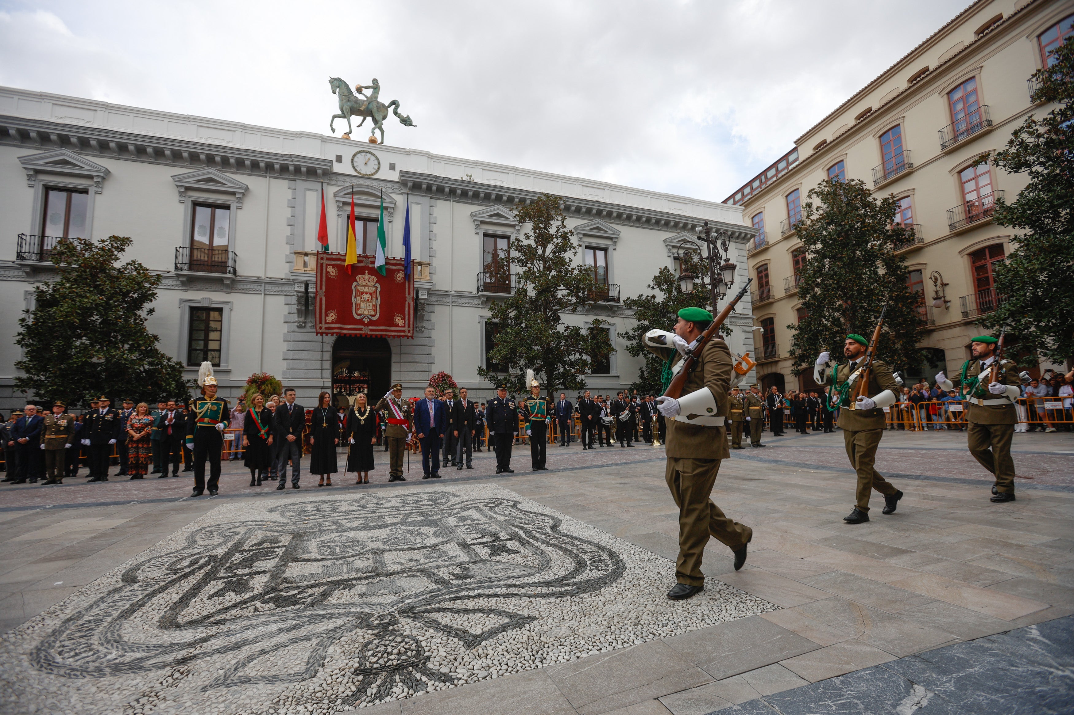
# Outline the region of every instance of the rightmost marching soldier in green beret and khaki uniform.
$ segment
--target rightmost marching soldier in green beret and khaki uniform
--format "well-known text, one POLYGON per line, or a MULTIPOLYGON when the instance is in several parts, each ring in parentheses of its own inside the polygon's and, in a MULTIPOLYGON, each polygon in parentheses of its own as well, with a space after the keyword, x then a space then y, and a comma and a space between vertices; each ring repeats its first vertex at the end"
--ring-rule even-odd
MULTIPOLYGON (((996 478, 992 502, 1014 501, 1014 440, 1016 413, 1014 401, 1021 394, 1017 370, 1011 360, 1001 360, 998 382, 991 379, 996 362, 996 343, 991 336, 977 336, 971 341, 973 359, 962 363, 961 391, 966 400, 967 442, 970 453, 996 478)), ((941 372, 937 384, 945 390, 955 386, 941 372)))

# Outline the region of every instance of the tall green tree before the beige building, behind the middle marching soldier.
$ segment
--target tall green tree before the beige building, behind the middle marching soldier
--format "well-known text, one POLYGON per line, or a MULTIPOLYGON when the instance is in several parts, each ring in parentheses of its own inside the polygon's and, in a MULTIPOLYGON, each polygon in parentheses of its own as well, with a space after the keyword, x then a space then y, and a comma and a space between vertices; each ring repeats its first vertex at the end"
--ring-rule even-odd
POLYGON ((876 198, 863 181, 825 179, 811 189, 797 224, 806 266, 798 299, 806 315, 792 332, 792 372, 812 370, 817 354, 842 359, 850 332, 868 340, 884 315, 877 356, 896 369, 916 368, 924 331, 921 296, 906 284, 906 264, 896 253, 911 229, 892 222, 896 198, 876 198))

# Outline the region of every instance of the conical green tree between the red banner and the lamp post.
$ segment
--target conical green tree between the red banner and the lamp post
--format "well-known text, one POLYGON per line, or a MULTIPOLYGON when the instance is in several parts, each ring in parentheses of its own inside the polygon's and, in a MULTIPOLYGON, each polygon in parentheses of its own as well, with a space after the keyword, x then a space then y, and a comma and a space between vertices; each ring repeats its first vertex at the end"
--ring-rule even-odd
POLYGON ((557 390, 585 387, 595 360, 611 354, 606 321, 590 326, 568 325, 564 314, 582 313, 601 297, 591 268, 575 263, 578 247, 567 228, 557 196, 545 194, 516 210, 519 223, 528 225, 521 240, 512 241, 508 256, 497 256, 484 266, 487 281, 510 285, 513 270, 517 287, 489 312, 495 324, 495 347, 489 360, 499 371, 478 368, 492 384, 506 382, 518 393, 528 392, 525 371, 538 375, 551 397, 557 390))

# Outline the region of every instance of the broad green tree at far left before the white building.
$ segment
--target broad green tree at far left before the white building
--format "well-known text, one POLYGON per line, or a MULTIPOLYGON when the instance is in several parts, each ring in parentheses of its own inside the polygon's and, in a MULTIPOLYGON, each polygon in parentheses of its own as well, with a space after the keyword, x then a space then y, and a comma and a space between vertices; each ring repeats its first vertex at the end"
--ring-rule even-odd
POLYGON ((131 239, 60 241, 50 256, 56 281, 34 288, 34 309, 19 318, 15 344, 25 357, 16 389, 69 406, 106 394, 156 402, 186 398, 183 363, 157 347, 146 328, 160 277, 136 260, 117 265, 131 239))

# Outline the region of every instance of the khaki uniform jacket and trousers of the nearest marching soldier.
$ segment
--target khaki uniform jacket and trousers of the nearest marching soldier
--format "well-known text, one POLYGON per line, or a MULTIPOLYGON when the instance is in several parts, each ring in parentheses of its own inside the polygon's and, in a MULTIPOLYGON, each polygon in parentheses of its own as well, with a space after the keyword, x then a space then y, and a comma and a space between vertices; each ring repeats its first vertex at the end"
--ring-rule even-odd
MULTIPOLYGON (((650 346, 667 358, 671 348, 650 346)), ((682 360, 679 356, 677 363, 682 360)), ((694 371, 686 378, 682 393, 711 390, 717 406, 717 417, 728 415, 727 392, 730 390, 734 360, 727 343, 713 339, 701 352, 694 371)), ((750 542, 753 530, 724 515, 709 495, 716 482, 720 460, 730 457, 726 427, 691 424, 681 419, 668 419, 667 468, 665 480, 679 507, 679 557, 676 580, 692 586, 705 584, 701 556, 712 536, 729 549, 737 550, 750 542)))

